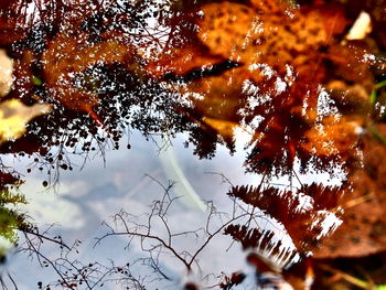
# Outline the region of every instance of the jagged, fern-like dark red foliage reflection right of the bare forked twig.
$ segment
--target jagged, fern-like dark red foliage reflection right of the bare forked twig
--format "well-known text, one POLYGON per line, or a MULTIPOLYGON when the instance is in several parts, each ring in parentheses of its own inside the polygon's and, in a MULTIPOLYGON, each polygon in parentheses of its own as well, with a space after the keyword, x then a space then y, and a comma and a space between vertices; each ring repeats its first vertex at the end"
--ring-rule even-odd
MULTIPOLYGON (((280 191, 276 187, 235 186, 228 195, 242 200, 257 211, 282 224, 300 253, 307 253, 336 225, 330 225, 323 234, 323 221, 326 213, 339 215, 340 200, 343 191, 340 187, 321 184, 303 185, 297 191, 280 191), (310 198, 310 200, 309 200, 310 198)), ((282 251, 281 241, 272 243, 275 232, 248 226, 230 225, 225 229, 244 248, 258 248, 262 251, 282 251)), ((288 251, 282 256, 291 256, 288 251)))

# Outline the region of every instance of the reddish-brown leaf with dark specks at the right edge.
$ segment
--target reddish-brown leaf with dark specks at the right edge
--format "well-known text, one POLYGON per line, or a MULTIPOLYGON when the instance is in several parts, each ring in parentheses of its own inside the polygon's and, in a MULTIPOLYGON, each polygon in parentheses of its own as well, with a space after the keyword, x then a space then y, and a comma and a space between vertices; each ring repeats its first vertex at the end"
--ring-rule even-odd
MULTIPOLYGON (((386 133, 386 127, 378 127, 386 133)), ((364 257, 386 250, 386 148, 374 136, 363 139, 363 168, 350 174, 352 192, 341 203, 343 224, 313 250, 315 258, 364 257)))

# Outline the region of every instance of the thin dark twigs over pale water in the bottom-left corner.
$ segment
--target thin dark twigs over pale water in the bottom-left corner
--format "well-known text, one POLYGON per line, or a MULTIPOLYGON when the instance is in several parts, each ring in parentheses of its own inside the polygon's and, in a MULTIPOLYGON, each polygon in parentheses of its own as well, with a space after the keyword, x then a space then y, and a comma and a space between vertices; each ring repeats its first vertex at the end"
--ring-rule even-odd
MULTIPOLYGON (((23 230, 23 240, 18 245, 18 254, 26 254, 30 259, 35 259, 42 268, 50 268, 57 277, 56 281, 43 283, 37 281, 39 289, 96 289, 107 283, 116 283, 122 289, 143 290, 144 278, 133 276, 130 271, 130 264, 117 266, 112 260, 105 265, 101 262, 83 262, 78 259, 78 247, 82 244, 75 240, 73 245, 67 245, 61 236, 50 236, 49 227, 40 233, 37 227, 23 230), (58 247, 58 255, 52 257, 46 254, 43 244, 47 241, 51 246, 58 247)), ((8 275, 17 288, 12 277, 8 275)), ((2 281, 2 280, 1 280, 2 281)), ((0 282, 1 282, 0 281, 0 282)), ((6 286, 6 284, 4 284, 6 286)), ((9 289, 3 287, 3 289, 9 289)))

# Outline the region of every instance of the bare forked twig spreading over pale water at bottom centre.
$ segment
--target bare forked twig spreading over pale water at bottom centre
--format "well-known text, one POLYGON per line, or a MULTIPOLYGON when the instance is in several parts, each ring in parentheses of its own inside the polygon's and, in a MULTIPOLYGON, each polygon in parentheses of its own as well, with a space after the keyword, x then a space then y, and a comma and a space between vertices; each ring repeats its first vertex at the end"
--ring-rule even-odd
MULTIPOLYGON (((261 218, 260 213, 246 210, 235 201, 233 201, 230 215, 218 212, 212 202, 207 202, 206 218, 202 227, 178 230, 172 226, 170 221, 173 205, 179 198, 172 196, 174 183, 169 182, 168 185, 163 185, 154 179, 153 181, 162 186, 163 195, 160 200, 152 203, 150 212, 142 216, 142 222, 139 222, 139 216, 121 210, 112 216, 111 223, 104 222, 104 225, 108 228, 108 233, 97 238, 95 246, 107 238, 118 236, 125 237, 128 240, 127 248, 135 241, 139 241, 146 257, 139 258, 138 261, 148 266, 157 276, 156 279, 172 280, 161 266, 162 259, 168 257, 178 260, 184 267, 186 275, 195 272, 201 277, 205 277, 202 272, 199 257, 215 237, 223 234, 227 226, 236 222, 247 225, 253 223, 256 227, 260 224, 260 221, 258 221, 258 218, 261 218), (178 240, 181 238, 189 239, 189 245, 192 245, 192 240, 194 240, 195 248, 193 250, 181 248, 181 244, 178 240)), ((217 277, 222 279, 221 275, 217 277)))

